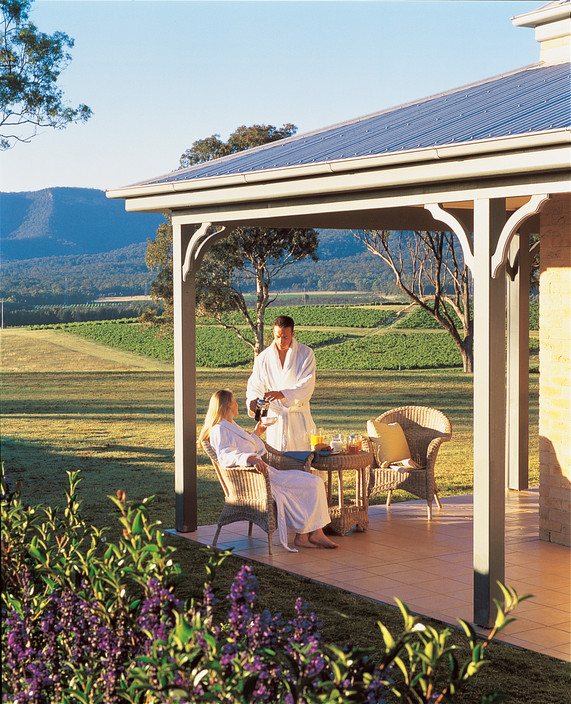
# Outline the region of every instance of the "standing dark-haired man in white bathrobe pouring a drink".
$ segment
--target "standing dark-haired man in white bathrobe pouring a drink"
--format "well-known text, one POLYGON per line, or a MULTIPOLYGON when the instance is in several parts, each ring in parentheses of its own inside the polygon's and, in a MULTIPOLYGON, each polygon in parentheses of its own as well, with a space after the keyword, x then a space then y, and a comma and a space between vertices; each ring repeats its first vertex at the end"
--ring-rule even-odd
POLYGON ((309 401, 315 388, 315 355, 294 339, 293 326, 287 315, 274 320, 274 341, 254 360, 246 390, 250 416, 256 399, 270 402, 278 420, 268 427, 268 444, 282 451, 311 449, 309 433, 314 427, 309 401))

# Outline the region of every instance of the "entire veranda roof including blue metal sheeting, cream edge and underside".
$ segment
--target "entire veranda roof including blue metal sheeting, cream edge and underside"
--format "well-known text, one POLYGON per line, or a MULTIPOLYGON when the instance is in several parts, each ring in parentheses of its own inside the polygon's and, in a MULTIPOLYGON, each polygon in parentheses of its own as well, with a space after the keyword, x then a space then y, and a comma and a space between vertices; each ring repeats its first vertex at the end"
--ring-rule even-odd
POLYGON ((568 190, 570 81, 569 62, 534 64, 107 196, 227 227, 434 229, 440 203, 471 230, 474 198, 511 213, 568 190))

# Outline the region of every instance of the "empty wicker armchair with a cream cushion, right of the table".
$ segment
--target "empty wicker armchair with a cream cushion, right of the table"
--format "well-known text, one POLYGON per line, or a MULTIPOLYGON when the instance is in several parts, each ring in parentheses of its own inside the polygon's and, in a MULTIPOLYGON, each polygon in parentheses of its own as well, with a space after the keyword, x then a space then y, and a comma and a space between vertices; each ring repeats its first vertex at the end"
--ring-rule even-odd
POLYGON ((388 491, 387 506, 390 506, 394 489, 405 491, 426 499, 428 520, 432 518, 432 501, 436 499, 442 508, 434 481, 434 465, 440 445, 452 437, 452 425, 441 411, 426 406, 402 406, 383 413, 375 419, 381 423, 398 423, 404 431, 411 458, 422 469, 401 472, 395 469, 381 469, 376 462, 369 467, 369 498, 374 494, 388 491))

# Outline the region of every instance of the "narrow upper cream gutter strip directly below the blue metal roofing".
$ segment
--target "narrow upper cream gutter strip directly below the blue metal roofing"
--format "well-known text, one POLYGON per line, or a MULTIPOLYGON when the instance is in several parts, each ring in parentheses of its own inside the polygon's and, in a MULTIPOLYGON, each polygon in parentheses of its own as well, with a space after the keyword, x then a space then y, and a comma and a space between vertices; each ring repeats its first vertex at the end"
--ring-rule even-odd
POLYGON ((191 193, 203 190, 219 190, 229 186, 244 186, 247 184, 311 179, 320 175, 332 173, 366 171, 385 169, 396 165, 414 165, 422 162, 437 162, 446 159, 469 159, 480 154, 496 154, 533 148, 546 148, 556 144, 570 143, 570 129, 550 130, 531 135, 515 135, 496 139, 480 140, 471 143, 450 144, 428 149, 417 149, 398 154, 358 157, 355 159, 340 159, 308 166, 283 167, 265 169, 263 171, 215 176, 204 179, 178 181, 160 184, 143 184, 125 188, 111 189, 106 192, 108 198, 138 199, 145 196, 160 196, 173 193, 191 193))

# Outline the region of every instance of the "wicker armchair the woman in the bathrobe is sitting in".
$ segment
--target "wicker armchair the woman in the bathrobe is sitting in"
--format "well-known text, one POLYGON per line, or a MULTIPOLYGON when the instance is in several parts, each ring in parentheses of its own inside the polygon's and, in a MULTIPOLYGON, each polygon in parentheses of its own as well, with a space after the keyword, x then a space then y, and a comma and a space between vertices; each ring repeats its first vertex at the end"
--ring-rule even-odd
MULTIPOLYGON (((271 555, 272 533, 277 528, 277 514, 268 474, 260 474, 253 467, 222 467, 212 445, 203 441, 202 447, 210 457, 224 490, 224 508, 218 519, 218 528, 212 544, 216 545, 218 542, 222 526, 237 521, 248 521, 248 536, 252 535, 254 523, 268 534, 268 551, 271 555)), ((313 455, 309 455, 302 464, 267 444, 264 455, 264 461, 274 469, 300 469, 306 472, 309 471, 312 458, 313 455)))

